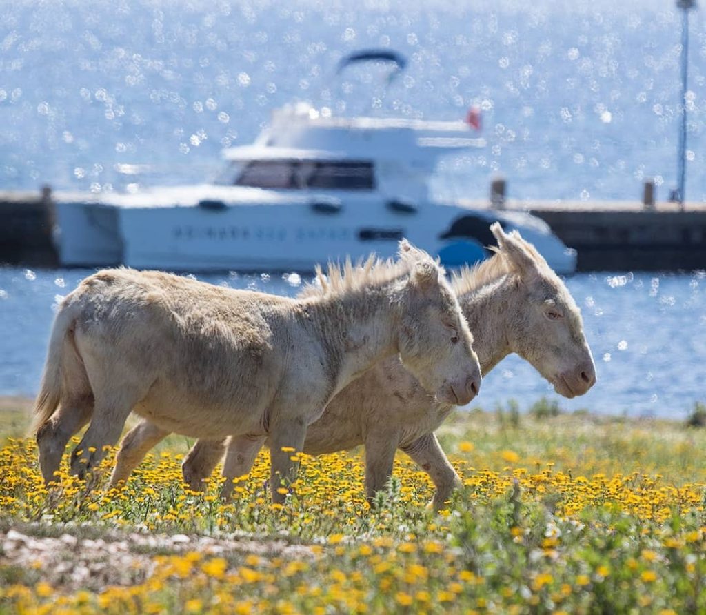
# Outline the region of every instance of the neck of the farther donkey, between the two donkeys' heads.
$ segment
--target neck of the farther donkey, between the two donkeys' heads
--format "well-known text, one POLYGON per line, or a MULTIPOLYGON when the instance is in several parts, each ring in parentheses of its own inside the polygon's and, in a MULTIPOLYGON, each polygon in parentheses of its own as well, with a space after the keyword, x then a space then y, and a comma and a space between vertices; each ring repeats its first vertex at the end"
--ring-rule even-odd
POLYGON ((510 275, 503 275, 459 297, 484 376, 512 352, 508 314, 513 286, 510 275))

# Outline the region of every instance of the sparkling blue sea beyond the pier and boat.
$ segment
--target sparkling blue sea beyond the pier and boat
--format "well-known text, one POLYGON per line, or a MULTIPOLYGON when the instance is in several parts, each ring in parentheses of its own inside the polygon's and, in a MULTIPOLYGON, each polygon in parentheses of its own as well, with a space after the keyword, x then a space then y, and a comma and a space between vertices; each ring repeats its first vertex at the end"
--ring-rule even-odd
MULTIPOLYGON (((681 13, 674 0, 28 0, 0 8, 0 186, 110 191, 204 181, 272 109, 463 119, 483 150, 436 192, 592 201, 676 185, 681 13), (337 73, 345 54, 409 60, 337 73)), ((706 12, 690 13, 687 190, 706 198, 706 12)))

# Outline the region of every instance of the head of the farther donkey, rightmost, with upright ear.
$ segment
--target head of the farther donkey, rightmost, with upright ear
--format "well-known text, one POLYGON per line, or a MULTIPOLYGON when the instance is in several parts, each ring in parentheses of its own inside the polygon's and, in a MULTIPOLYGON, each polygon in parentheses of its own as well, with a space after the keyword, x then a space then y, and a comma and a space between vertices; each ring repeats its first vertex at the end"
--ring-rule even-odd
POLYGON ((580 309, 532 244, 517 231, 506 234, 498 222, 491 231, 516 277, 508 298, 510 350, 530 362, 560 395, 583 395, 596 383, 596 368, 580 309))

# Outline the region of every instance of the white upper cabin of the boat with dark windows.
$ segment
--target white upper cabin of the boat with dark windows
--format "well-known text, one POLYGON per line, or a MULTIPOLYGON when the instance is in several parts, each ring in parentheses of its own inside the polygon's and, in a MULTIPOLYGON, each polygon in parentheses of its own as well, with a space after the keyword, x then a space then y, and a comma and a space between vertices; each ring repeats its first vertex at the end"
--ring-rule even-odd
POLYGON ((227 168, 217 183, 419 199, 439 156, 483 145, 461 122, 335 118, 290 106, 273 114, 253 145, 224 150, 227 168))

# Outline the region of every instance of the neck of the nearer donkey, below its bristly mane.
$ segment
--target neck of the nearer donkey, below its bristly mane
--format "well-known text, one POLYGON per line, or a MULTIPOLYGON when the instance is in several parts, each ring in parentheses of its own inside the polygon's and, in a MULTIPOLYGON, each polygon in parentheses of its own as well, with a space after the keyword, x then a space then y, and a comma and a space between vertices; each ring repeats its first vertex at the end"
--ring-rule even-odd
POLYGON ((388 283, 311 304, 311 314, 316 314, 312 333, 335 367, 333 394, 397 352, 397 294, 397 285, 388 283))

